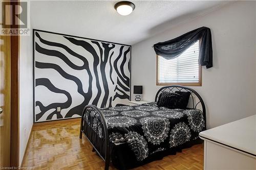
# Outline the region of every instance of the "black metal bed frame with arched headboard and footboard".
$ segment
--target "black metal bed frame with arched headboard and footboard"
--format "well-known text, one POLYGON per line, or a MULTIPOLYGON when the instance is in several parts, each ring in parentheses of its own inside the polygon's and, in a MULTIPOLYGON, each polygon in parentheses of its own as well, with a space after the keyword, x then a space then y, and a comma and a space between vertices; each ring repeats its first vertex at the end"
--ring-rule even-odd
MULTIPOLYGON (((201 105, 201 110, 204 115, 204 121, 206 123, 206 110, 204 102, 201 96, 193 89, 178 85, 165 86, 158 90, 155 97, 155 102, 157 102, 159 95, 163 91, 175 92, 175 91, 189 91, 191 106, 188 108, 199 109, 201 105)), ((110 165, 110 137, 108 133, 108 126, 106 125, 106 120, 102 112, 94 105, 87 105, 82 111, 81 125, 80 125, 80 135, 82 134, 88 139, 92 144, 93 152, 96 152, 105 162, 105 170, 109 169, 110 165), (91 114, 92 113, 92 114, 91 114), (93 125, 93 121, 96 118, 96 123, 93 125), (95 127, 96 125, 96 127, 95 127)))

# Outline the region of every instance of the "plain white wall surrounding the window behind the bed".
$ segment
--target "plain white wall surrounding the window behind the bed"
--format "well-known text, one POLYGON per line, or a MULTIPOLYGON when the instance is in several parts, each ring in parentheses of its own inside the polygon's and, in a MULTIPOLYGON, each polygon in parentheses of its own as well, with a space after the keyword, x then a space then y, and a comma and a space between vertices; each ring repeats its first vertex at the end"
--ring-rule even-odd
MULTIPOLYGON (((211 29, 214 67, 202 70, 207 128, 255 114, 255 2, 236 2, 132 46, 132 85, 143 85, 143 100, 154 101, 156 54, 152 45, 205 26, 211 29)), ((133 91, 132 91, 133 92, 133 91)))

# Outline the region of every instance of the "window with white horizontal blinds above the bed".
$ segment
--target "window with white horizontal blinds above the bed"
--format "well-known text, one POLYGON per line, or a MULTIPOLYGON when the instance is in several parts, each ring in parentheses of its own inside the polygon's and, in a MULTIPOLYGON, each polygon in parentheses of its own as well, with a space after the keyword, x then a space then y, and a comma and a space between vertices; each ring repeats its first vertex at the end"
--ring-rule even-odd
POLYGON ((202 67, 198 58, 199 41, 175 59, 166 60, 157 56, 157 85, 201 86, 202 67))

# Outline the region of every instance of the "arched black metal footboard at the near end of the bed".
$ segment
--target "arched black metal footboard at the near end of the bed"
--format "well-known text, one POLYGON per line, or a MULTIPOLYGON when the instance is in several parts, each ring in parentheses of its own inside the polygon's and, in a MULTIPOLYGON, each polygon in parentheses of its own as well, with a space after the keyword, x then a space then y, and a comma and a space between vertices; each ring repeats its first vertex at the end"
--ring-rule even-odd
POLYGON ((110 165, 110 139, 108 126, 102 112, 94 105, 84 107, 81 117, 80 135, 86 136, 93 146, 93 151, 105 161, 105 170, 110 165))

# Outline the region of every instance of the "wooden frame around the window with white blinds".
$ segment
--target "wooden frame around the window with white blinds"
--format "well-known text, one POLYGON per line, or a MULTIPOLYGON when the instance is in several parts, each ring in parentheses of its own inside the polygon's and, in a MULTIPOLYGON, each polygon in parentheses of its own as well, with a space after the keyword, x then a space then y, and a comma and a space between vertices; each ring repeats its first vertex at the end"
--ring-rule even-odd
POLYGON ((157 86, 168 86, 168 85, 181 85, 181 86, 202 86, 202 66, 199 65, 199 81, 198 83, 194 82, 188 82, 188 83, 159 83, 158 77, 159 77, 159 70, 158 70, 158 57, 161 57, 159 55, 156 55, 156 85, 157 86))

